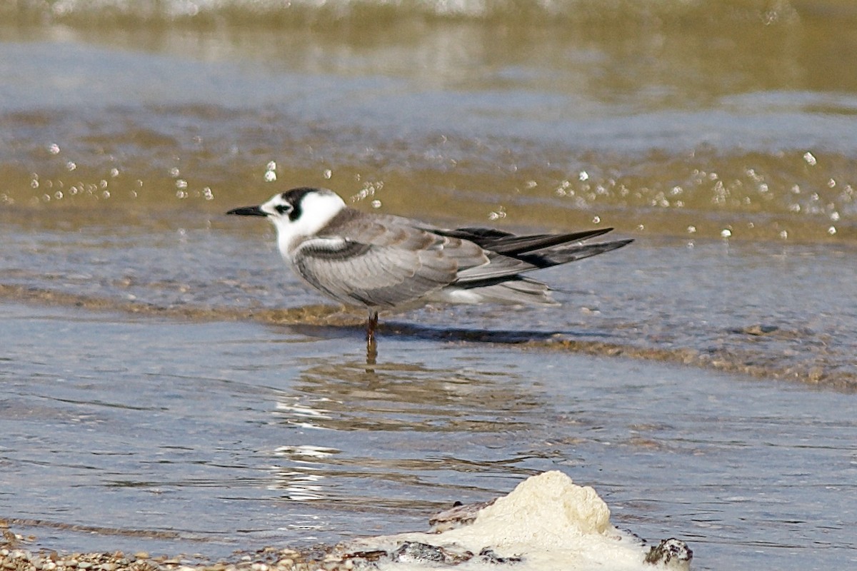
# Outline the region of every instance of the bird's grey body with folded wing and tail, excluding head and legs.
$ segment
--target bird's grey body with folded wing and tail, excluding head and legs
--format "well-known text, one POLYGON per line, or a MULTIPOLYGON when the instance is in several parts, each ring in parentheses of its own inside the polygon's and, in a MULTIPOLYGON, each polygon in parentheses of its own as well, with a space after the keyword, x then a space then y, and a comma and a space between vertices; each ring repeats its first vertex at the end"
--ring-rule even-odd
POLYGON ((584 243, 608 231, 519 236, 496 229, 447 230, 345 209, 298 243, 290 258, 303 280, 346 305, 400 306, 447 286, 478 289, 492 300, 549 303, 544 284, 519 274, 631 242, 584 243))

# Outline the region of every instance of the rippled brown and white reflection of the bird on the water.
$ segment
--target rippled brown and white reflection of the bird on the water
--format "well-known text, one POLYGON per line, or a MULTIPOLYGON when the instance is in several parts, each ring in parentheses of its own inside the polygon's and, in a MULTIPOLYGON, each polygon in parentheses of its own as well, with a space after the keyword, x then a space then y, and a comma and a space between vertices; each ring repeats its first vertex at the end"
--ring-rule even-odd
MULTIPOLYGON (((273 411, 286 429, 271 458, 273 487, 289 501, 412 510, 414 485, 499 466, 515 471, 520 459, 502 453, 502 442, 530 430, 547 406, 541 391, 512 360, 459 355, 452 363, 301 360, 273 411)), ((448 492, 424 495, 448 500, 448 492)))

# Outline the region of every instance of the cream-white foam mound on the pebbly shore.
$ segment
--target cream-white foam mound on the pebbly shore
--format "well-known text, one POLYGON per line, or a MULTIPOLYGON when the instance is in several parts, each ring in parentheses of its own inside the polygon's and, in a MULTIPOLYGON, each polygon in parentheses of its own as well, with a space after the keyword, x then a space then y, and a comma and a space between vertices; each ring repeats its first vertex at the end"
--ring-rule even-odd
MULTIPOLYGON (((645 563, 647 549, 610 523, 610 509, 590 486, 552 471, 521 482, 507 496, 483 508, 470 524, 441 533, 403 533, 374 538, 375 544, 420 542, 478 554, 492 550, 500 557, 519 557, 515 571, 632 571, 657 568, 645 563)), ((361 542, 373 541, 364 539, 361 542)), ((425 568, 419 562, 379 562, 381 569, 425 568)), ((477 557, 456 568, 501 568, 477 557)))

